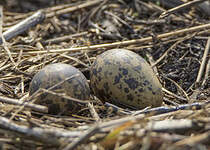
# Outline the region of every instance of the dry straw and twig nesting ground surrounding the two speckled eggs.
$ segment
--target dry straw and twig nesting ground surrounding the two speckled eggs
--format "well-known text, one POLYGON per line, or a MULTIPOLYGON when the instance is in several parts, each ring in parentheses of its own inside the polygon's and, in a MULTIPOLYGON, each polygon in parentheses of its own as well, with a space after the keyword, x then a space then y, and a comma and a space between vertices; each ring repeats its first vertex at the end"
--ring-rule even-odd
POLYGON ((38 11, 45 17, 1 41, 1 148, 210 149, 210 1, 184 2, 2 0, 1 37, 38 11), (29 84, 44 66, 68 63, 89 81, 96 56, 112 48, 132 50, 151 65, 163 107, 119 108, 92 91, 74 114, 26 106, 33 103, 29 84))

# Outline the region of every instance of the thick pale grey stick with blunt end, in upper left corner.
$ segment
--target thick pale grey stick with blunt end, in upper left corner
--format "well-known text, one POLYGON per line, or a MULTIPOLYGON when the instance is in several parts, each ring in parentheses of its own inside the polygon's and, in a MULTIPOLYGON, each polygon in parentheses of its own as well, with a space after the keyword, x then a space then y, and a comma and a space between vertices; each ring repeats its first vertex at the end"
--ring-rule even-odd
MULTIPOLYGON (((8 41, 12 39, 13 37, 28 30, 29 28, 41 23, 44 20, 44 18, 45 18, 45 14, 42 11, 38 11, 34 13, 32 16, 26 18, 20 23, 9 28, 7 31, 3 33, 3 36, 5 40, 8 41)), ((2 44, 2 39, 0 39, 0 44, 2 44)))

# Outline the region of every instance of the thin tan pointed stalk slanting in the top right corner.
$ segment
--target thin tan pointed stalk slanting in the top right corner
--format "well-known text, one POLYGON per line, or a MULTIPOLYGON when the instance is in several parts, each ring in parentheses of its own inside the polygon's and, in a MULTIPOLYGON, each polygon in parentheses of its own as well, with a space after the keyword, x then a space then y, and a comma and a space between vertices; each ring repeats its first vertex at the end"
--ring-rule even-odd
POLYGON ((172 14, 172 13, 175 13, 175 12, 179 11, 180 9, 188 8, 188 7, 191 7, 191 6, 193 6, 193 5, 202 3, 202 2, 204 2, 204 1, 206 1, 206 0, 194 0, 194 1, 190 1, 190 2, 184 3, 184 4, 182 4, 182 5, 179 5, 179 6, 177 6, 177 7, 174 7, 174 8, 172 8, 172 9, 170 9, 170 10, 167 10, 167 11, 163 12, 163 13, 160 15, 160 18, 164 18, 164 17, 166 17, 166 16, 168 16, 168 15, 170 15, 170 14, 172 14))

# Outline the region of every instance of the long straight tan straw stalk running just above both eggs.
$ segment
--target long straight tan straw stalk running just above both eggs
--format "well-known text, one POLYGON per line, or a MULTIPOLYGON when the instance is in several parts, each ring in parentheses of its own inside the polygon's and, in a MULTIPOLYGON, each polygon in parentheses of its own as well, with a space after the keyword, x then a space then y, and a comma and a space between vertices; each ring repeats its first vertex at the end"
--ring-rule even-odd
MULTIPOLYGON (((199 25, 191 28, 185 28, 178 31, 172 31, 169 33, 164 33, 157 35, 157 39, 167 38, 170 36, 177 36, 180 34, 186 34, 186 33, 192 33, 192 32, 198 32, 200 30, 206 30, 210 28, 209 24, 199 25)), ((122 42, 115 42, 115 43, 107 43, 107 44, 99 44, 99 45, 92 45, 92 46, 84 46, 84 47, 76 47, 76 48, 66 48, 66 49, 52 49, 52 50, 42 50, 42 51, 29 51, 29 52, 23 52, 24 54, 43 54, 43 53, 61 53, 61 52, 78 52, 78 51, 84 51, 84 50, 98 50, 99 48, 114 48, 119 46, 128 46, 131 44, 142 44, 145 42, 152 42, 153 37, 146 37, 142 39, 134 39, 134 40, 128 40, 128 41, 122 41, 122 42)), ((13 53, 16 54, 16 53, 13 53)))

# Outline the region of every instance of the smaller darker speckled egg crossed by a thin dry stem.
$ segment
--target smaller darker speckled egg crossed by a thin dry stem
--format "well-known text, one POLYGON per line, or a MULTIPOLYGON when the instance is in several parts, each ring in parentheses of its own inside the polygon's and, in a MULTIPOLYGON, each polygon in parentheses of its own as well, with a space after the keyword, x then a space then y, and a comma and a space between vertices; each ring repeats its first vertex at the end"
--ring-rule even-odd
MULTIPOLYGON (((90 88, 85 76, 68 64, 50 64, 41 69, 31 81, 29 95, 40 88, 80 100, 88 100, 90 97, 90 88)), ((49 93, 38 96, 35 103, 47 106, 50 114, 72 113, 79 108, 78 103, 49 93)))

